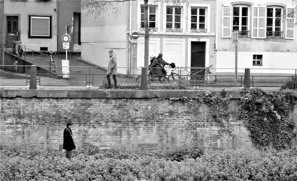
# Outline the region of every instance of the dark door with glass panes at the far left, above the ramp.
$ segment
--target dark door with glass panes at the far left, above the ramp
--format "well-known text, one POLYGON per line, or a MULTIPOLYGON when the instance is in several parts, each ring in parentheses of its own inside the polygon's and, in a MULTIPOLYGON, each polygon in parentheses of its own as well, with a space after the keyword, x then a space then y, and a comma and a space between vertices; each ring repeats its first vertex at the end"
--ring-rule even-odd
MULTIPOLYGON (((6 23, 6 40, 18 41, 18 16, 7 16, 6 23)), ((12 48, 12 43, 7 42, 7 48, 12 48)))

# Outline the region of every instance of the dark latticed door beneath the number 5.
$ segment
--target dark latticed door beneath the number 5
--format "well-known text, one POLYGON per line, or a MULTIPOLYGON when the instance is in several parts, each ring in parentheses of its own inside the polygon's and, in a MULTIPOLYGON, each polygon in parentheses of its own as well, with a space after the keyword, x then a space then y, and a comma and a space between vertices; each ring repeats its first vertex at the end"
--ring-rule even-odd
POLYGON ((203 69, 198 67, 205 67, 205 42, 191 42, 191 67, 191 71, 198 72, 201 76, 204 75, 203 69))

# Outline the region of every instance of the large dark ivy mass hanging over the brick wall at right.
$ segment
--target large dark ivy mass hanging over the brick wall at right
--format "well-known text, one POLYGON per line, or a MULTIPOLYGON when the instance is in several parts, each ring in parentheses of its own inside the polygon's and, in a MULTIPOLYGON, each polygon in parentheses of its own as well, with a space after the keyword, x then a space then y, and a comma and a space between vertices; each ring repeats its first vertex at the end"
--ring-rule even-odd
POLYGON ((265 149, 271 144, 272 148, 280 150, 289 145, 296 136, 295 123, 289 118, 296 100, 296 95, 288 90, 271 92, 253 88, 243 92, 240 115, 257 148, 265 149))

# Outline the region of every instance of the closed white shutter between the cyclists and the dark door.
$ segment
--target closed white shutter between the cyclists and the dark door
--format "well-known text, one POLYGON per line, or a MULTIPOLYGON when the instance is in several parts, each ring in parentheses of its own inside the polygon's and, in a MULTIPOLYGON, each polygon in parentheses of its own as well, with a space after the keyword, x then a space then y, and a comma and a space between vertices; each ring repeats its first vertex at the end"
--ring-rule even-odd
POLYGON ((166 41, 165 42, 165 57, 166 62, 174 62, 177 67, 182 66, 182 50, 183 50, 183 42, 182 41, 166 41))

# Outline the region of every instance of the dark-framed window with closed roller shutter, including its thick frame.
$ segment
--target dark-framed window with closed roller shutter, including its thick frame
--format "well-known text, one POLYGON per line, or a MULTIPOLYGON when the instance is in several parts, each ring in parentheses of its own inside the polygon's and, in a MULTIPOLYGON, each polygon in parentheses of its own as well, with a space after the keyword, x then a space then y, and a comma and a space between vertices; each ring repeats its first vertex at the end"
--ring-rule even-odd
POLYGON ((51 38, 51 17, 30 16, 29 38, 51 38))

